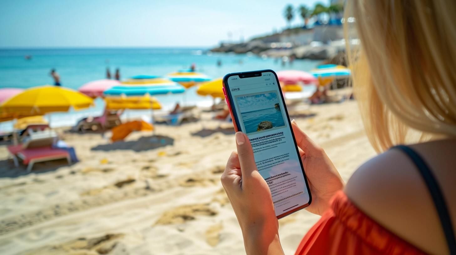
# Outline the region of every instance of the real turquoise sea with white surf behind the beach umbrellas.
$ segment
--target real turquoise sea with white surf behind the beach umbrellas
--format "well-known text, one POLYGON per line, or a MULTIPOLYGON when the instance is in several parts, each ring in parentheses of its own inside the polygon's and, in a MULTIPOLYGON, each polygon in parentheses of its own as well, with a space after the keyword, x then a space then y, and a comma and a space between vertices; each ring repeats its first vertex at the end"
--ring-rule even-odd
MULTIPOLYGON (((261 69, 309 71, 320 61, 295 60, 282 65, 279 59, 254 54, 212 53, 207 48, 58 48, 58 49, 0 49, 0 88, 30 88, 52 84, 52 68, 61 77, 63 87, 77 90, 83 84, 104 79, 106 68, 111 75, 117 68, 121 79, 135 75, 165 76, 174 71, 196 65, 196 71, 212 78, 223 77, 230 72, 261 69), (31 56, 26 59, 25 56, 31 56), (221 65, 217 65, 220 62, 221 65)), ((183 94, 163 95, 157 98, 163 109, 171 109, 176 102, 181 105, 210 106, 212 97, 196 93, 197 87, 183 94)), ((102 114, 104 101, 95 100, 94 107, 81 111, 47 114, 51 127, 73 126, 79 119, 102 114)), ((150 117, 148 111, 125 111, 125 117, 150 117)), ((0 132, 9 132, 13 122, 1 122, 0 132)))

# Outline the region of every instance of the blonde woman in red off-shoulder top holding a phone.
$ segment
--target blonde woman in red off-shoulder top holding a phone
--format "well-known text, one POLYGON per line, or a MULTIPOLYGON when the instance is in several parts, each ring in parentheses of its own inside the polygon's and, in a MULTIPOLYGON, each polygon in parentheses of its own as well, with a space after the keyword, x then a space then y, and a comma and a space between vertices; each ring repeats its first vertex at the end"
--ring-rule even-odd
MULTIPOLYGON (((383 153, 345 185, 292 122, 313 198, 307 210, 322 215, 296 254, 456 254, 456 2, 352 0, 346 10, 362 45, 350 58, 356 97, 383 153)), ((249 139, 238 132, 236 142, 222 184, 247 254, 282 254, 268 185, 249 139)))

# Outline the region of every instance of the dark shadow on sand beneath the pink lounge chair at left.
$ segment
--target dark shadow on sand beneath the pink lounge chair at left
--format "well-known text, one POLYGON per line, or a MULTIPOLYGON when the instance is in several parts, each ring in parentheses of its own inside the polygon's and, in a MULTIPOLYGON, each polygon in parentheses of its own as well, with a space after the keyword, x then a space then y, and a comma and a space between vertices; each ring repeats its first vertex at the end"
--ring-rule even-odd
MULTIPOLYGON (((30 173, 47 173, 66 166, 70 166, 66 159, 39 162, 33 165, 30 173)), ((27 172, 27 166, 22 164, 21 160, 19 160, 18 167, 14 166, 14 162, 11 158, 0 160, 0 178, 15 178, 30 173, 27 172)))

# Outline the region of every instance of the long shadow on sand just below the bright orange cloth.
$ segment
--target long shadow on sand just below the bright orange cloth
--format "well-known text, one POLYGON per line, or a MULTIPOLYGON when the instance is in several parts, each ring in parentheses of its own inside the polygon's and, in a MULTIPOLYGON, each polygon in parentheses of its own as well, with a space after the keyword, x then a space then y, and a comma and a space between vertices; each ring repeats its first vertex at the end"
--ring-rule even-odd
POLYGON ((91 148, 93 151, 133 150, 135 152, 146 151, 173 145, 174 139, 167 136, 143 136, 136 141, 119 141, 115 143, 100 144, 91 148))

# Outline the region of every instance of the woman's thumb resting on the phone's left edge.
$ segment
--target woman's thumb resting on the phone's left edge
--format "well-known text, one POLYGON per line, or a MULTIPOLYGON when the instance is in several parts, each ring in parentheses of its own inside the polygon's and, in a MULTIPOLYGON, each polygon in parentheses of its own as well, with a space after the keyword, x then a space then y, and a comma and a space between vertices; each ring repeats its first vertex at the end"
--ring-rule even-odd
POLYGON ((248 179, 252 172, 257 171, 257 168, 252 145, 246 134, 242 132, 236 133, 236 146, 238 147, 238 158, 242 171, 242 178, 248 179))

